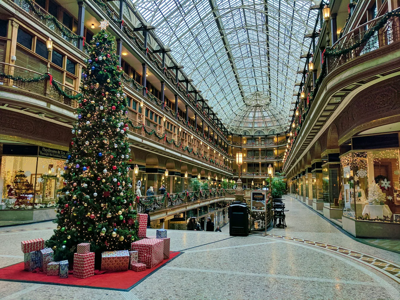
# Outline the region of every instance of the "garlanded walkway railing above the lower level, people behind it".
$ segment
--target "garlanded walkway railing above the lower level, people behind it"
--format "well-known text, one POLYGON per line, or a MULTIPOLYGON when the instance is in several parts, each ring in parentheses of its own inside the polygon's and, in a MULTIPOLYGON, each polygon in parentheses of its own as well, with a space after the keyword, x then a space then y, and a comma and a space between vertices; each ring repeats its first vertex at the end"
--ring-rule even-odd
POLYGON ((235 194, 235 190, 204 190, 197 192, 181 192, 176 194, 168 194, 156 196, 136 197, 138 212, 144 212, 146 208, 150 211, 171 208, 180 204, 195 202, 198 200, 212 199, 218 197, 226 197, 235 194))

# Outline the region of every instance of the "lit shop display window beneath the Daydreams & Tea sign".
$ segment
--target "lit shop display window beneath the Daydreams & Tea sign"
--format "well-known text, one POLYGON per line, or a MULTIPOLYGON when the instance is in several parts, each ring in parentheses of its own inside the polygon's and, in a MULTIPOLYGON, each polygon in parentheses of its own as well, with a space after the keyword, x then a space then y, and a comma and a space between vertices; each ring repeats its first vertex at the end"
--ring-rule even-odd
POLYGON ((54 207, 62 188, 64 160, 3 156, 0 172, 2 209, 54 207))

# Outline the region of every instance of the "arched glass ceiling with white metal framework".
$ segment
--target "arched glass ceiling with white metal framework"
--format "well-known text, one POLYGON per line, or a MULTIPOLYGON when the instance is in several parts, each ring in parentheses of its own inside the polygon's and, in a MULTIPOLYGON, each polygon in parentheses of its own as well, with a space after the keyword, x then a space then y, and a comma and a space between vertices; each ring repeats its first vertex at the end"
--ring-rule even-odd
MULTIPOLYGON (((298 70, 304 68, 315 3, 294 0, 134 0, 234 133, 284 131, 298 70), (254 132, 250 130, 250 132, 254 132)), ((299 78, 300 79, 300 78, 299 78)), ((296 91, 297 92, 297 91, 296 91)))

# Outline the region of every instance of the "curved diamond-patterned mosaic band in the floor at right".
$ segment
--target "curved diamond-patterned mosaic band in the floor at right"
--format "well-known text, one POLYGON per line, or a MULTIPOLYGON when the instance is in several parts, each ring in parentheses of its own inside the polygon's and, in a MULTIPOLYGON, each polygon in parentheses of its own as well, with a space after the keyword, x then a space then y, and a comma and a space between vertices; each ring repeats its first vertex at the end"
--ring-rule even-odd
POLYGON ((369 254, 365 254, 362 252, 358 252, 352 249, 344 248, 341 246, 337 246, 334 244, 327 244, 327 243, 322 243, 314 240, 307 240, 304 238, 294 238, 292 236, 282 236, 279 234, 267 234, 268 237, 270 238, 277 238, 280 240, 286 240, 290 242, 295 242, 295 243, 300 243, 300 244, 306 244, 308 246, 313 246, 316 248, 328 250, 330 252, 335 252, 338 254, 341 254, 343 256, 349 257, 353 260, 356 260, 358 262, 361 262, 362 264, 365 264, 367 266, 370 266, 382 274, 392 278, 394 281, 396 281, 398 284, 400 284, 400 265, 394 264, 393 262, 390 262, 388 260, 384 260, 382 258, 378 258, 369 254))

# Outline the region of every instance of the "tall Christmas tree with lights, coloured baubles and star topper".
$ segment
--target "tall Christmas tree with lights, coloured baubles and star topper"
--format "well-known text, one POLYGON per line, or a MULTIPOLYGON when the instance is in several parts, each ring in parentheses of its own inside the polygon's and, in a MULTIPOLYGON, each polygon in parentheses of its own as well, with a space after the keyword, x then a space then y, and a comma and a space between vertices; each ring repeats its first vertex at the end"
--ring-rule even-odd
MULTIPOLYGON (((96 261, 102 251, 130 249, 138 240, 136 210, 128 177, 127 102, 114 38, 102 30, 92 39, 92 53, 82 73, 78 120, 64 170, 58 224, 46 241, 54 260, 73 260, 76 245, 90 242, 96 261)), ((98 267, 98 264, 97 264, 98 267)))

